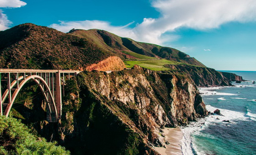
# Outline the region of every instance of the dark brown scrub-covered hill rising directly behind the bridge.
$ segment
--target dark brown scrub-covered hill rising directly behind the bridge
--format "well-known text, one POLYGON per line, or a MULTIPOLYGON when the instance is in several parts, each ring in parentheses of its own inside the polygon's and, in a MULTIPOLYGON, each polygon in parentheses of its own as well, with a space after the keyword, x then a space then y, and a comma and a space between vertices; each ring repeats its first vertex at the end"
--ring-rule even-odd
POLYGON ((83 69, 112 55, 90 40, 45 26, 28 23, 0 32, 0 68, 83 69))

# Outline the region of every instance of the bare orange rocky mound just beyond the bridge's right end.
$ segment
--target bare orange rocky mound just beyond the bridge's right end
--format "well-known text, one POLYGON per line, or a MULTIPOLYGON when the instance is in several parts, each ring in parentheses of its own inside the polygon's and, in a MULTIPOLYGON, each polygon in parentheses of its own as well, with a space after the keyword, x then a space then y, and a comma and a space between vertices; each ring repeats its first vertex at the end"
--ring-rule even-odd
POLYGON ((123 63, 120 57, 108 57, 101 62, 94 63, 88 67, 86 67, 87 71, 97 70, 97 71, 121 71, 125 68, 125 64, 123 63))

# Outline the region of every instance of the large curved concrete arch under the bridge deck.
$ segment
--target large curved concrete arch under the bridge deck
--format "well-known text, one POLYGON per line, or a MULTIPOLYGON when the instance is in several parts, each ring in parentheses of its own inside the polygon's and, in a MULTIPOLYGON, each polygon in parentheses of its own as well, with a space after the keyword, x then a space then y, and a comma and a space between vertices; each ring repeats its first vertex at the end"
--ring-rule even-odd
MULTIPOLYGON (((22 78, 22 77, 19 77, 19 79, 20 80, 23 79, 23 80, 20 83, 17 83, 18 87, 15 89, 14 93, 11 94, 11 102, 9 102, 7 104, 7 107, 5 109, 4 115, 6 117, 8 117, 8 115, 10 113, 10 110, 11 110, 11 107, 12 107, 12 105, 13 105, 16 97, 17 97, 17 94, 20 92, 20 90, 24 86, 24 84, 32 79, 35 83, 37 83, 37 85, 39 86, 40 90, 42 91, 43 96, 44 96, 44 98, 45 98, 45 100, 47 102, 47 106, 48 106, 50 114, 52 115, 52 117, 55 117, 55 119, 57 119, 58 118, 58 112, 57 112, 56 104, 54 102, 53 94, 51 93, 50 88, 49 88, 47 82, 41 76, 38 76, 38 75, 31 75, 31 76, 26 77, 25 79, 22 78)), ((15 81, 12 82, 11 88, 15 84, 16 84, 15 81)), ((9 94, 7 92, 8 92, 8 90, 5 91, 3 99, 5 99, 7 97, 7 95, 9 94)))

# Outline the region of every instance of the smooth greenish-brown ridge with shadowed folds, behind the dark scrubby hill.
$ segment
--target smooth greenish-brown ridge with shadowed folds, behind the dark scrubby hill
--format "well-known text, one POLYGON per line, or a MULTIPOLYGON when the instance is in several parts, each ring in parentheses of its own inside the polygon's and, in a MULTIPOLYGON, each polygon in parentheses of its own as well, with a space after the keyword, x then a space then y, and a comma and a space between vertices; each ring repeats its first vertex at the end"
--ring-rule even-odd
POLYGON ((146 59, 163 58, 176 62, 183 62, 200 67, 205 67, 195 58, 190 57, 184 52, 171 47, 161 47, 155 44, 134 41, 130 38, 123 38, 104 30, 71 30, 69 34, 80 36, 92 40, 97 46, 106 50, 113 50, 117 54, 123 55, 126 59, 141 59, 142 56, 148 56, 146 59), (137 53, 137 55, 135 54, 137 53), (139 56, 140 55, 140 56, 139 56))

